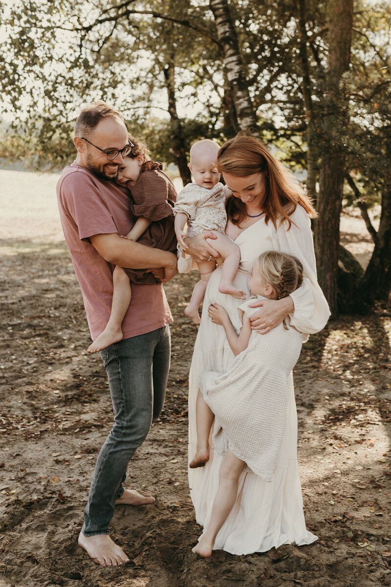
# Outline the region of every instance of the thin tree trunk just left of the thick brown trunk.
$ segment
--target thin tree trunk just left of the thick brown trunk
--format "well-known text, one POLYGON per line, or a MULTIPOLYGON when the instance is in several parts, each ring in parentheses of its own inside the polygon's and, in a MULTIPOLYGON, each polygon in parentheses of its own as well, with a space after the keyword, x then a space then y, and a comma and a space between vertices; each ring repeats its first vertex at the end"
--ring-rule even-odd
POLYGON ((315 146, 315 120, 312 104, 311 77, 308 65, 307 29, 305 28, 305 0, 297 0, 299 52, 302 71, 302 95, 304 100, 305 117, 307 119, 307 180, 305 187, 312 197, 317 195, 317 155, 315 146))

